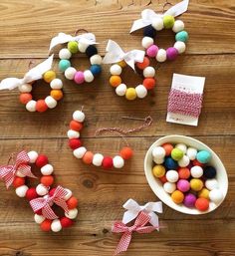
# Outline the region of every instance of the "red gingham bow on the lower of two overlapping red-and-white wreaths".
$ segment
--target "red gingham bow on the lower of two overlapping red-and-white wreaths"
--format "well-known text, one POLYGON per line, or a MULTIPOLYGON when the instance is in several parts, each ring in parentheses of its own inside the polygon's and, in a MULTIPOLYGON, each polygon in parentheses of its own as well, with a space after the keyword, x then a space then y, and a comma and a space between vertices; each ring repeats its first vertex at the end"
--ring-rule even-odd
POLYGON ((30 205, 34 212, 42 209, 42 214, 47 219, 56 219, 58 216, 55 214, 51 205, 56 203, 58 206, 62 207, 65 212, 69 212, 68 205, 65 200, 65 196, 67 195, 68 191, 62 186, 58 186, 52 196, 48 197, 40 197, 30 201, 30 205))

